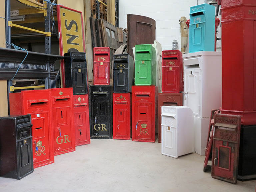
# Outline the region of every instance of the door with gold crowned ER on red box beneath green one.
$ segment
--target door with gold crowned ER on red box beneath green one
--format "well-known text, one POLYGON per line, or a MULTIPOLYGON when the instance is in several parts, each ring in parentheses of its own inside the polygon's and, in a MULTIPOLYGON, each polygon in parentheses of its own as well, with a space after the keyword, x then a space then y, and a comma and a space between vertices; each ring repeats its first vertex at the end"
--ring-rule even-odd
MULTIPOLYGON (((155 106, 154 106, 155 107, 155 106)), ((133 116, 135 122, 135 139, 153 139, 155 135, 155 124, 152 123, 152 112, 154 108, 152 102, 136 102, 135 114, 133 116)))

